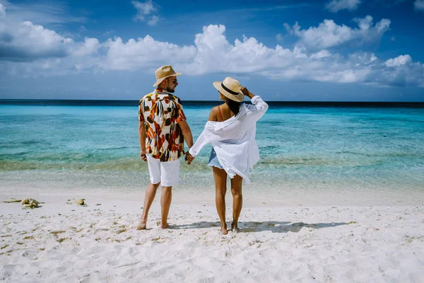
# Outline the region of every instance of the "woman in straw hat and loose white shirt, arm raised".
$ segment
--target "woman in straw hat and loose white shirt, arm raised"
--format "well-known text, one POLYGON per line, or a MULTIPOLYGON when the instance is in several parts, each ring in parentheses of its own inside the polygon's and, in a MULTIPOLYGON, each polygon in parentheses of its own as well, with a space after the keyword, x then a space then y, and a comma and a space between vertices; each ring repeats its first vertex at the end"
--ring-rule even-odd
POLYGON ((254 96, 230 77, 216 81, 213 86, 218 90, 224 104, 212 108, 208 122, 196 143, 187 153, 191 163, 203 146, 211 143, 213 149, 208 166, 212 166, 216 189, 216 210, 218 211, 224 235, 228 233, 225 223, 225 192, 227 175, 231 178, 232 192, 232 231, 237 231, 237 221, 242 211, 242 181, 249 180, 249 169, 259 161, 259 149, 255 141, 256 122, 268 109, 268 104, 259 96, 254 96), (245 96, 252 105, 241 103, 245 96))

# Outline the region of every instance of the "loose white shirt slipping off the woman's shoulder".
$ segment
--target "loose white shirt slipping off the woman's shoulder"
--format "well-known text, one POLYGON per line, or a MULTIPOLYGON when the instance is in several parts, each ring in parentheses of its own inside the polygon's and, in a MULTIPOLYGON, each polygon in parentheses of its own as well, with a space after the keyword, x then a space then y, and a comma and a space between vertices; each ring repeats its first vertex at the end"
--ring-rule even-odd
POLYGON ((243 103, 237 115, 223 122, 206 122, 205 129, 189 150, 192 156, 211 143, 218 161, 225 172, 233 178, 240 175, 247 184, 249 170, 259 161, 256 137, 256 122, 268 110, 268 104, 260 96, 252 98, 252 105, 243 103))

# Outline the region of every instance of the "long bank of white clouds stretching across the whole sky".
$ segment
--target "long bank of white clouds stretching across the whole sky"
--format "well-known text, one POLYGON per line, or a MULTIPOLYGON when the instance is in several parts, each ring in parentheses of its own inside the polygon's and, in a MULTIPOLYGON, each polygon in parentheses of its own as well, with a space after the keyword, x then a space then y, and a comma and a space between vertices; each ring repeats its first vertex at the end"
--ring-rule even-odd
MULTIPOLYGON (((365 83, 375 86, 424 87, 424 64, 410 55, 379 59, 372 52, 340 54, 344 45, 365 47, 379 40, 390 21, 376 24, 357 18, 357 27, 325 20, 317 27, 286 28, 298 42, 293 47, 268 47, 245 35, 230 42, 224 25, 204 26, 192 45, 176 45, 146 35, 124 42, 121 37, 100 42, 74 41, 29 21, 0 18, 0 71, 16 76, 58 76, 78 72, 152 71, 172 64, 189 76, 211 73, 264 76, 279 81, 365 83)), ((148 10, 151 11, 151 10, 148 10)))

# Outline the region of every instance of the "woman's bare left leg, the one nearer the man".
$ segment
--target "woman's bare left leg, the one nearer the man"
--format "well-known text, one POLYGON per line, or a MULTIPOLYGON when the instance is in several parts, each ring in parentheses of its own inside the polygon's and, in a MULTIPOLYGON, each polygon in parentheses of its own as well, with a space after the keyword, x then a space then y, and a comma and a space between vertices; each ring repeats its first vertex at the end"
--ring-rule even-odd
POLYGON ((227 173, 225 170, 212 167, 215 179, 215 204, 216 211, 221 223, 221 233, 228 234, 227 222, 225 222, 225 193, 227 192, 227 173))

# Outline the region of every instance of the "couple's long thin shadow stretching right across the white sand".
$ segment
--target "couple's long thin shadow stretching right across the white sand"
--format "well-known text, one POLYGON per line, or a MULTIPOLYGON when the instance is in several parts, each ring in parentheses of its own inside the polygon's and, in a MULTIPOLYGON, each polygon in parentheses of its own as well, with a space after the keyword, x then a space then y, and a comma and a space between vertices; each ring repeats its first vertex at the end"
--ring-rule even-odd
MULTIPOLYGON (((332 222, 332 223, 316 223, 316 224, 306 224, 303 222, 284 222, 284 221, 264 221, 264 222, 255 222, 255 221, 247 221, 247 222, 239 222, 238 233, 247 233, 247 232, 260 232, 260 231, 271 231, 273 233, 287 233, 287 232, 295 232, 298 233, 303 227, 313 228, 313 229, 321 229, 321 228, 329 228, 340 225, 346 225, 346 222, 332 222)), ((220 222, 207 222, 201 221, 192 224, 186 225, 174 225, 174 229, 201 229, 201 228, 209 228, 209 227, 220 227, 220 222)), ((228 225, 230 227, 230 225, 228 225)))

